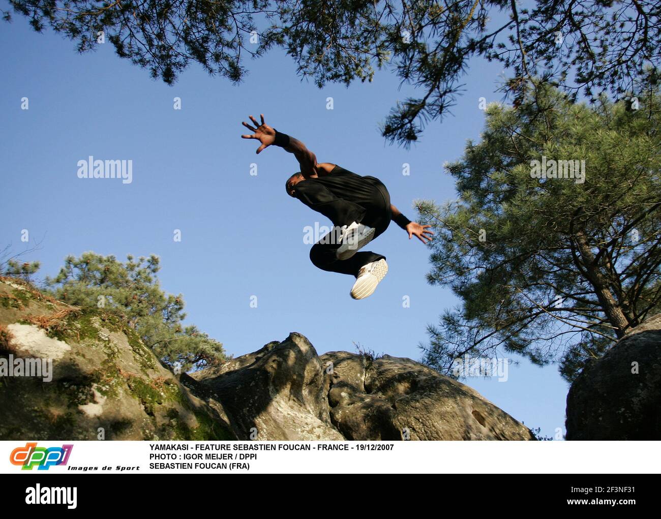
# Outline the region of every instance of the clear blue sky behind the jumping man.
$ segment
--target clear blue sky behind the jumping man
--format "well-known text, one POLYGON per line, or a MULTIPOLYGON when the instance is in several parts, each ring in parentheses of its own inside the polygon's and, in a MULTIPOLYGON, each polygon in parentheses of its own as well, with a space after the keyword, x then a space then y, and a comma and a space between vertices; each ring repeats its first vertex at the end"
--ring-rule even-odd
MULTIPOLYGON (((12 243, 17 253, 42 241, 40 251, 25 257, 42 262, 41 276, 56 274, 65 256, 84 251, 122 260, 156 254, 163 288, 184 295, 187 322, 235 356, 297 331, 320 354, 354 351, 357 342, 420 358, 426 325, 457 304, 448 290, 426 283, 428 249, 392 223, 368 247, 387 257, 389 274, 370 298, 351 299, 353 278, 309 261, 304 227, 329 222, 286 195, 284 180, 298 171, 293 155, 276 147, 255 155, 256 141, 240 138, 241 121, 264 113, 320 162, 379 177, 413 220, 416 198, 455 197, 442 165, 461 156, 467 139, 479 139, 479 98, 501 100, 498 64, 474 61, 453 114, 430 124, 407 151, 385 143, 377 129, 411 92, 399 89, 389 72, 377 73, 373 83, 320 90, 301 81, 293 61, 276 50, 247 61, 250 73, 239 86, 192 65, 169 87, 117 58, 109 43, 79 55, 72 42, 50 31, 36 34, 20 16, 1 23, 0 246, 12 243), (20 108, 23 97, 28 110, 20 108), (173 109, 175 97, 181 110, 173 109), (89 155, 132 160, 132 182, 79 179, 77 162, 89 155), (250 174, 253 163, 257 175, 250 174), (20 241, 22 229, 30 233, 28 244, 20 241), (175 229, 180 242, 173 240, 175 229)), ((542 434, 564 431, 568 387, 556 366, 522 360, 510 366, 507 382, 463 381, 542 434)))

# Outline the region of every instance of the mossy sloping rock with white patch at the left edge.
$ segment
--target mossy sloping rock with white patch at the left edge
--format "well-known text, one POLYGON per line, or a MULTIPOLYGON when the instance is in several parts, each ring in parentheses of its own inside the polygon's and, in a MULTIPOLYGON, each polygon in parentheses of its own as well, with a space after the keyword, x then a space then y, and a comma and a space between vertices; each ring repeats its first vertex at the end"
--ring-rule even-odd
POLYGON ((234 439, 120 319, 0 280, 0 440, 234 439), (52 359, 48 377, 7 376, 52 359), (49 378, 52 378, 49 380, 49 378))

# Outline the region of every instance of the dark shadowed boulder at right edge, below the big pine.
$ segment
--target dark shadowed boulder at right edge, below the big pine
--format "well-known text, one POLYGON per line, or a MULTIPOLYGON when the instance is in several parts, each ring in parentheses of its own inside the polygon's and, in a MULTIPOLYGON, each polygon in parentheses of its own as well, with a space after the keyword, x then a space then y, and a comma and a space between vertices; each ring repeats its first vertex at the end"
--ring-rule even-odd
POLYGON ((567 395, 567 440, 661 440, 661 315, 588 365, 567 395))

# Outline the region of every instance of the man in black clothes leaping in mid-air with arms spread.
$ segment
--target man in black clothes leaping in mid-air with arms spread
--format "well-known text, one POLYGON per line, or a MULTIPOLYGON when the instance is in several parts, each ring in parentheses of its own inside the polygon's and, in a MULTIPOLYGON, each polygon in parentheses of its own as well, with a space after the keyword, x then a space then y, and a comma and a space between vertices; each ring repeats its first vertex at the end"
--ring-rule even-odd
POLYGON ((254 128, 247 122, 243 126, 254 134, 241 137, 259 140, 257 153, 273 144, 293 153, 301 165, 301 171, 287 180, 287 193, 327 216, 334 225, 329 234, 313 245, 310 259, 322 270, 354 276, 352 298, 371 296, 388 272, 385 256, 358 251, 383 233, 391 220, 408 232, 408 239, 417 236, 422 243, 431 239, 434 233, 427 229, 431 225, 420 225, 401 214, 390 203, 390 194, 381 180, 356 175, 335 164, 319 164, 301 141, 268 126, 264 114, 262 124, 253 116, 250 118, 254 128))

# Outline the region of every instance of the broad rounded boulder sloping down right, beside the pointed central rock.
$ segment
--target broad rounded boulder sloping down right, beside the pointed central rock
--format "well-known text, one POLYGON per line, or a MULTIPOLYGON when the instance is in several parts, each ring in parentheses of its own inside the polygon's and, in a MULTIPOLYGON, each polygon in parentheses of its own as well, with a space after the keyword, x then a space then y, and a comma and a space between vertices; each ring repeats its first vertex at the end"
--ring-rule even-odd
MULTIPOLYGON (((331 420, 348 440, 534 440, 477 391, 408 358, 331 352, 331 420)), ((328 369, 328 368, 327 368, 328 369)))

